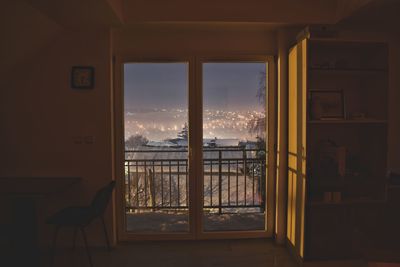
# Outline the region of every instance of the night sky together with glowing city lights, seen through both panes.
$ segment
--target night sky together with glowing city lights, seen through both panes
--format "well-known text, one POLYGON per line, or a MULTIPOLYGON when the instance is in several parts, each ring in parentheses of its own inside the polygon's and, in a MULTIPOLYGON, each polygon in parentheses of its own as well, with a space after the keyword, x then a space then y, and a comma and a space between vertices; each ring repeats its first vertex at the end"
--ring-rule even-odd
MULTIPOLYGON (((250 138, 248 122, 263 112, 257 91, 265 63, 203 63, 203 136, 250 138), (257 113, 258 112, 258 113, 257 113)), ((177 136, 188 122, 187 63, 124 65, 125 137, 177 136)))

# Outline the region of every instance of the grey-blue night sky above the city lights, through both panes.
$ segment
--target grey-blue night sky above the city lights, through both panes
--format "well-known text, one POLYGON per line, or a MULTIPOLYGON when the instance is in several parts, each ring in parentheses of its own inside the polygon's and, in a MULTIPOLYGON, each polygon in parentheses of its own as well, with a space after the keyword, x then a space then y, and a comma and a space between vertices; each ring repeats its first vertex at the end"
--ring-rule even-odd
MULTIPOLYGON (((125 64, 125 109, 186 109, 188 70, 187 63, 125 64)), ((265 72, 265 63, 204 63, 204 108, 259 110, 261 72, 265 72)))

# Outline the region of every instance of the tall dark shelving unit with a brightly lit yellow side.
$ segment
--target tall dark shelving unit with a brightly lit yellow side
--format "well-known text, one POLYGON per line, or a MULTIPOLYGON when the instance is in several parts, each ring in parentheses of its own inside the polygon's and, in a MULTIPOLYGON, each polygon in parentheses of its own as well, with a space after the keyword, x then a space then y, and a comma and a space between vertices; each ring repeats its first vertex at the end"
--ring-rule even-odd
POLYGON ((289 51, 287 239, 302 259, 357 257, 386 201, 388 48, 304 39, 289 51))

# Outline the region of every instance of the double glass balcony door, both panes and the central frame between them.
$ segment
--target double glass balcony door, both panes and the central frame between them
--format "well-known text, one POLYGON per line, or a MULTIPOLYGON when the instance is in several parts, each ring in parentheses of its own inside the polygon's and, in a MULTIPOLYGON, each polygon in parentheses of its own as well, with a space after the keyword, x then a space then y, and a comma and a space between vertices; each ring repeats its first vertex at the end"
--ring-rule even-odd
POLYGON ((121 238, 270 236, 271 60, 190 62, 122 64, 121 238))

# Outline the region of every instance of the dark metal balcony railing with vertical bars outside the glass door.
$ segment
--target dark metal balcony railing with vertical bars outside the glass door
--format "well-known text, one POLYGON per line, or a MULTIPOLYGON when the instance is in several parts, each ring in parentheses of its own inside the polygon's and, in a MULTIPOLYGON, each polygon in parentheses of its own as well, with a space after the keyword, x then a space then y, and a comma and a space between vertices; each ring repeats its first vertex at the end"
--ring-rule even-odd
MULTIPOLYGON (((263 212, 266 151, 203 148, 203 206, 209 212, 263 212)), ((189 207, 187 150, 125 151, 127 211, 189 207)))

